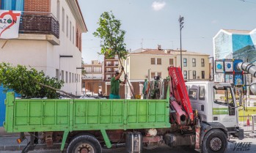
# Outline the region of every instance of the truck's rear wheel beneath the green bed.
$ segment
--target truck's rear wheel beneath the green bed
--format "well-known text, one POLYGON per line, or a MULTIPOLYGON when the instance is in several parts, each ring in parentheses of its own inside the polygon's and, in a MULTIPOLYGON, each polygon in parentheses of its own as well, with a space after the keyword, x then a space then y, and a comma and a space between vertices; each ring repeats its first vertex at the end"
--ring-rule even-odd
POLYGON ((67 153, 101 153, 100 142, 92 135, 78 135, 67 146, 67 153))

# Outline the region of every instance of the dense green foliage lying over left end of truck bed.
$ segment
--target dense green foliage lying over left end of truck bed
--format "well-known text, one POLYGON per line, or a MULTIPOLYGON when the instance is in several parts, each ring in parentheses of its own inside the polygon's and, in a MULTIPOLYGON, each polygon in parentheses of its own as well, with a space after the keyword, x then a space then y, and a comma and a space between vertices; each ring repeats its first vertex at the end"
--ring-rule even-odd
POLYGON ((12 67, 11 64, 0 63, 0 84, 5 89, 13 89, 25 98, 48 97, 53 99, 58 97, 55 90, 40 86, 40 83, 54 89, 61 89, 64 82, 45 76, 44 72, 38 72, 34 68, 28 70, 23 65, 12 67))

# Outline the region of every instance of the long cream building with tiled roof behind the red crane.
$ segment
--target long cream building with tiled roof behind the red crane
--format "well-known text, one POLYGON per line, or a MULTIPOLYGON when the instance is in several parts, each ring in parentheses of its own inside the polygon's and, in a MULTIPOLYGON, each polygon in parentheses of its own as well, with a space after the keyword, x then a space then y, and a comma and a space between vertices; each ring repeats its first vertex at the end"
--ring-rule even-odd
MULTIPOLYGON (((185 81, 209 79, 209 59, 205 53, 182 51, 183 78, 185 81)), ((125 60, 128 78, 131 82, 153 79, 156 75, 167 78, 167 67, 180 67, 180 51, 158 49, 138 49, 129 53, 125 60)))

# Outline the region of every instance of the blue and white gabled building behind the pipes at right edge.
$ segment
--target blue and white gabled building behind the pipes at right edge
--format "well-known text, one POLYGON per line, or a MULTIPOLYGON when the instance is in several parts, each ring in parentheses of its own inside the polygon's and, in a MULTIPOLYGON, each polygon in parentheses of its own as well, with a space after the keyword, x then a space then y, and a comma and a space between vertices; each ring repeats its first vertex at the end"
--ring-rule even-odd
MULTIPOLYGON (((221 29, 213 37, 214 59, 242 59, 256 64, 256 29, 233 30, 221 29)), ((215 75, 216 81, 225 81, 224 73, 215 75)), ((246 76, 246 82, 251 83, 251 75, 246 76)))

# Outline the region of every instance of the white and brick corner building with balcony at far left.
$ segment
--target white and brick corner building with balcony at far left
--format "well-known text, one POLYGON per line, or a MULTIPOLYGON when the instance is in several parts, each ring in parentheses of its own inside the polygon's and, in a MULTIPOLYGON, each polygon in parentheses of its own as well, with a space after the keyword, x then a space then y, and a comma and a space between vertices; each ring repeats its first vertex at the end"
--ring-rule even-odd
POLYGON ((17 39, 0 40, 0 61, 34 67, 81 94, 81 34, 87 32, 77 0, 1 0, 1 10, 20 10, 17 39))

